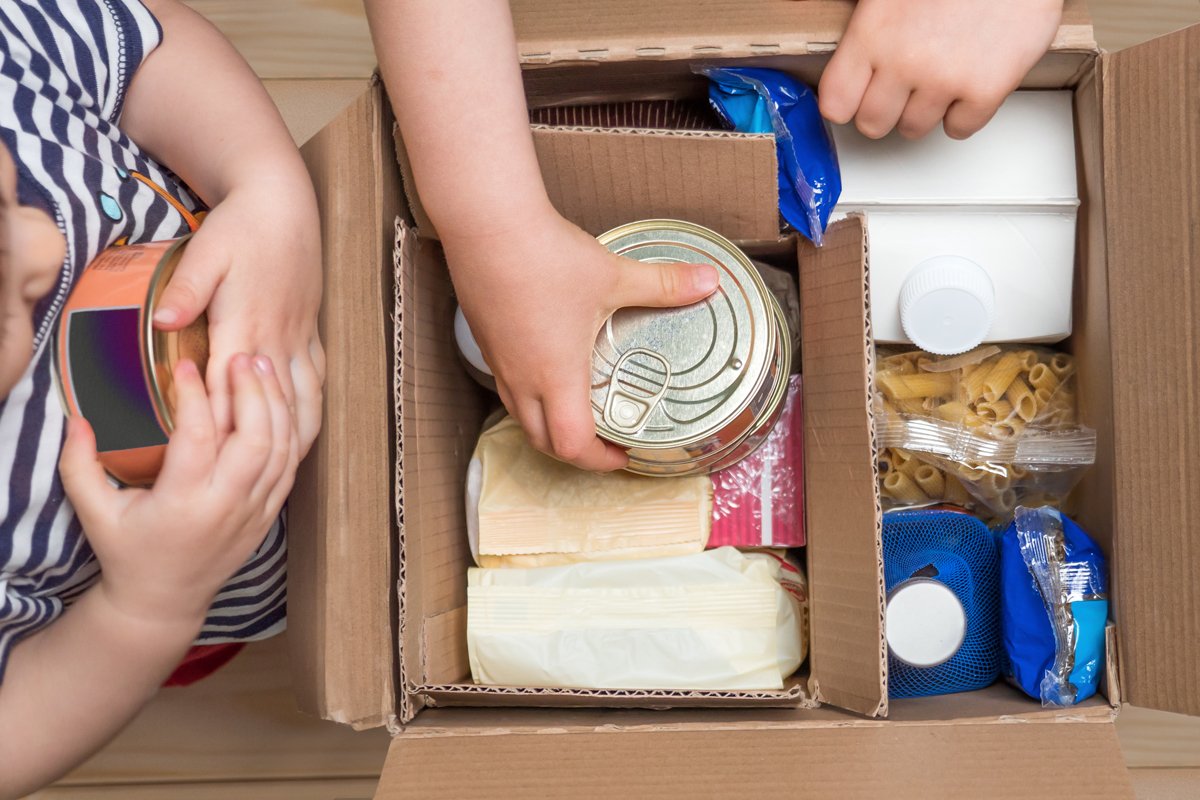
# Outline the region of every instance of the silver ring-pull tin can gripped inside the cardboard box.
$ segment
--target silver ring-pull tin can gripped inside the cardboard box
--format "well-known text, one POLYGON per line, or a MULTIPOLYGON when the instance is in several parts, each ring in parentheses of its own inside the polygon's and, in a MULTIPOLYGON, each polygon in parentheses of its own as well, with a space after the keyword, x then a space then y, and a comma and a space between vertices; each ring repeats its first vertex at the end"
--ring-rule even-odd
POLYGON ((749 456, 779 419, 792 360, 784 311, 754 264, 724 236, 676 219, 598 239, 641 261, 712 264, 720 284, 692 306, 608 319, 592 354, 596 432, 642 475, 712 473, 749 456))

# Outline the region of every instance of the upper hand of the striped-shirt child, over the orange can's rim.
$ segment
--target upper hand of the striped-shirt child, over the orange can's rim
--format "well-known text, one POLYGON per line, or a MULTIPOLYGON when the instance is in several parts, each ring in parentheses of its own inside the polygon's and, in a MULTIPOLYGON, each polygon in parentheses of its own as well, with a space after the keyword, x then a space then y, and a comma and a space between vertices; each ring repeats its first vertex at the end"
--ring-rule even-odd
POLYGON ((230 429, 229 360, 275 362, 301 455, 320 429, 325 354, 317 333, 320 235, 307 184, 235 188, 205 218, 163 291, 155 325, 179 330, 209 314, 206 381, 217 432, 230 429))

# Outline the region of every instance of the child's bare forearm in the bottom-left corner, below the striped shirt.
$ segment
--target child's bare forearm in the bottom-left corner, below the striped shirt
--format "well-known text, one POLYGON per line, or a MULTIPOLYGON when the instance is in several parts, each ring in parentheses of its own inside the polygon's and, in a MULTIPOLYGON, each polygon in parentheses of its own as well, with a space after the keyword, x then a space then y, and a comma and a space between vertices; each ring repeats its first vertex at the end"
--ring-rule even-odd
POLYGON ((0 798, 56 780, 112 739, 170 675, 200 624, 130 616, 97 584, 18 644, 0 684, 0 798))

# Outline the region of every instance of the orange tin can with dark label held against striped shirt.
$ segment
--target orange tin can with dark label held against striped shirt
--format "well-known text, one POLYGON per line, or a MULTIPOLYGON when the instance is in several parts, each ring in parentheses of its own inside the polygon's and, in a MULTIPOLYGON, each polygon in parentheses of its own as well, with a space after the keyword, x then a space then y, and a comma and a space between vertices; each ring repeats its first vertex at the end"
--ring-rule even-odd
POLYGON ((187 236, 114 246, 88 265, 59 318, 54 368, 67 414, 88 420, 100 462, 127 486, 154 482, 174 429, 174 369, 204 374, 208 320, 158 331, 154 312, 187 236))

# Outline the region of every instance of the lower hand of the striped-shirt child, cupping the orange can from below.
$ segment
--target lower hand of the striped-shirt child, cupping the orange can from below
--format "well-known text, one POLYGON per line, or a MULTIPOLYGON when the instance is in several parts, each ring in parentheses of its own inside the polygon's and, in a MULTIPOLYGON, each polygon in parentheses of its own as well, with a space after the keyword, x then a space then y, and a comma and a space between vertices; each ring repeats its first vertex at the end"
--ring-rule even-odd
POLYGON ((196 366, 176 367, 175 431, 150 489, 114 488, 90 426, 70 422, 62 485, 100 560, 97 589, 130 618, 203 622, 292 488, 299 440, 271 360, 236 355, 229 381, 234 432, 222 443, 196 366))

